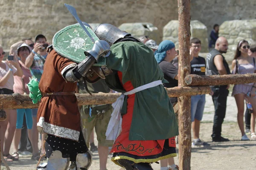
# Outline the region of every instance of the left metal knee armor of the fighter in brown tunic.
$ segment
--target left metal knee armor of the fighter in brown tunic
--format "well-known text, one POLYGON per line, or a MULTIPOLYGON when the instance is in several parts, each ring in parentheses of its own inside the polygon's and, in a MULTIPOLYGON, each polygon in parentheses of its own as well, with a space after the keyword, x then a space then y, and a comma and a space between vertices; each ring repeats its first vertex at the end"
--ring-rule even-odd
POLYGON ((67 170, 69 163, 70 158, 62 158, 61 151, 55 150, 47 161, 47 170, 67 170))

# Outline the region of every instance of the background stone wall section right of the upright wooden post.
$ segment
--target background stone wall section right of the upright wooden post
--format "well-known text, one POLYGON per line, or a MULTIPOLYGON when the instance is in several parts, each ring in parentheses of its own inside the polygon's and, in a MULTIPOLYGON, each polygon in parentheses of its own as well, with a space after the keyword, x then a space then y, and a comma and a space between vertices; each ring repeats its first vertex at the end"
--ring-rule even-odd
POLYGON ((214 24, 227 20, 255 19, 256 0, 191 0, 191 20, 207 26, 208 35, 214 24))

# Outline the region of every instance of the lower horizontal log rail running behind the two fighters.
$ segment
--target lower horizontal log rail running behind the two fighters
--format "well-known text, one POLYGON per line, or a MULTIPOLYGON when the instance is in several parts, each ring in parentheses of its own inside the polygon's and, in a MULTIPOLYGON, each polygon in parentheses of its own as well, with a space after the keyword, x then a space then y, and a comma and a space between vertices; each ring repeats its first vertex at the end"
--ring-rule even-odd
MULTIPOLYGON (((166 88, 169 97, 192 96, 198 94, 209 94, 209 86, 204 87, 175 87, 166 88)), ((89 94, 76 94, 79 105, 104 105, 116 101, 120 93, 98 93, 90 96, 89 94)), ((20 109, 38 108, 39 104, 33 104, 28 95, 23 94, 3 94, 0 95, 0 109, 20 109)))

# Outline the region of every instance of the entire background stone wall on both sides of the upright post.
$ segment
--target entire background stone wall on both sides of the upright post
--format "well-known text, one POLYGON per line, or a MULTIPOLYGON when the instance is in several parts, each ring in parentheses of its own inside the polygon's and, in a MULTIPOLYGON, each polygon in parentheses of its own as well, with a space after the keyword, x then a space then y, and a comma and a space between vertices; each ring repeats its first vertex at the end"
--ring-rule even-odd
MULTIPOLYGON (((55 32, 76 23, 64 3, 74 6, 87 23, 148 22, 159 30, 177 20, 177 0, 0 0, 0 44, 8 49, 24 37, 45 34, 49 41, 55 32)), ((207 26, 247 20, 256 16, 256 0, 191 0, 191 19, 207 26)))

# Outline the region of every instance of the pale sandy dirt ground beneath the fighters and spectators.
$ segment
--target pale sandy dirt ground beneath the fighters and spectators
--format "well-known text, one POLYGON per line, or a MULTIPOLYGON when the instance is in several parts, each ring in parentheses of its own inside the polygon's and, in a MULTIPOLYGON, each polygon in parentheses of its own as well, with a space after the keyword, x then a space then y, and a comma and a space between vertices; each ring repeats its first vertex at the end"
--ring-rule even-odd
MULTIPOLYGON (((201 123, 200 138, 208 144, 200 148, 192 148, 191 170, 256 170, 256 141, 242 142, 241 132, 236 123, 236 103, 233 97, 228 97, 227 113, 222 126, 222 136, 229 138, 230 142, 211 142, 212 120, 214 108, 211 97, 207 95, 204 118, 201 123)), ((95 142, 96 135, 95 136, 95 142)), ((248 136, 250 138, 250 136, 248 136)), ((97 144, 97 142, 96 142, 97 144)), ((177 146, 178 147, 178 146, 177 146)), ((12 150, 11 152, 12 153, 12 150)), ((36 161, 31 155, 20 157, 19 161, 9 163, 11 170, 35 170, 36 161)), ((175 157, 178 164, 178 157, 175 157)), ((160 170, 160 164, 152 164, 154 170, 160 170)), ((119 170, 108 156, 108 170, 119 170)), ((6 167, 1 164, 1 170, 6 167)), ((99 170, 99 155, 93 153, 93 163, 90 170, 99 170)))

